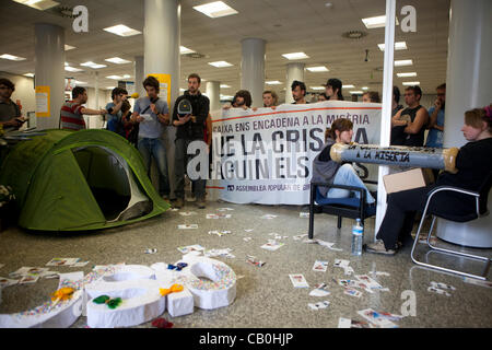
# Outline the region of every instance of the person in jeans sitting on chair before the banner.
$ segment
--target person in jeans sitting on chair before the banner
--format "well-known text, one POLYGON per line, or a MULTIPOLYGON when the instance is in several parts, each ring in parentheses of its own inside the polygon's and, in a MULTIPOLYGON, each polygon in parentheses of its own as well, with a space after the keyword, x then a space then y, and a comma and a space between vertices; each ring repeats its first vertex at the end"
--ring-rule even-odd
MULTIPOLYGON (((351 163, 340 164, 331 160, 331 145, 336 142, 349 144, 352 141, 353 124, 349 119, 340 118, 331 124, 327 129, 325 138, 326 144, 321 152, 313 161, 313 183, 328 183, 333 185, 345 185, 364 188, 366 191, 366 203, 374 206, 375 199, 365 187, 362 179, 353 168, 351 163)), ((347 198, 350 191, 341 188, 319 187, 319 192, 328 198, 347 198)), ((360 198, 360 192, 355 192, 360 198)))

